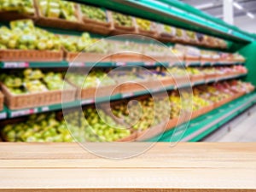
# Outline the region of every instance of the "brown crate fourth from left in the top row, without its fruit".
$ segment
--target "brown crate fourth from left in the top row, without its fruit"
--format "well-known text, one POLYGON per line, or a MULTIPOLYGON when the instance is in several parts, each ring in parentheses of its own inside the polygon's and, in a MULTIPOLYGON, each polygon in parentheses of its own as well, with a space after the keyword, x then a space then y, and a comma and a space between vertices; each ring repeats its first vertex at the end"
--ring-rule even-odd
POLYGON ((131 17, 131 26, 120 26, 119 24, 115 23, 113 19, 113 12, 111 11, 108 11, 108 18, 111 22, 111 34, 118 35, 126 33, 136 33, 134 17, 131 17))

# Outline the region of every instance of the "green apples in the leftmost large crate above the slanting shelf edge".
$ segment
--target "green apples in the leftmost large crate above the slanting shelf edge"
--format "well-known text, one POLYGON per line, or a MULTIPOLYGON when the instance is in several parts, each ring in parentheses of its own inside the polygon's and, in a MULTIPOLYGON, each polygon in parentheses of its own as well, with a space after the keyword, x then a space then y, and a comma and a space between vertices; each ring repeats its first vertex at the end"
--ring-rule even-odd
POLYGON ((25 69, 13 73, 2 73, 0 80, 12 94, 37 93, 47 90, 61 90, 63 78, 61 73, 43 73, 39 69, 25 69))

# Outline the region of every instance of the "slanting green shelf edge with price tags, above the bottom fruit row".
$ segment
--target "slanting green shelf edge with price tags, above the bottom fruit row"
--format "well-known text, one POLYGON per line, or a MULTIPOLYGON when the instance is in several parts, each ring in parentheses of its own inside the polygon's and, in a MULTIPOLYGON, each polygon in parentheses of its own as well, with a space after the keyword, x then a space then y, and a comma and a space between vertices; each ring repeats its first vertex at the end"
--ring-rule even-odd
POLYGON ((41 106, 41 107, 36 107, 36 108, 25 108, 25 109, 19 109, 19 110, 10 110, 9 108, 4 108, 3 114, 0 113, 0 119, 7 119, 7 118, 16 118, 20 116, 25 116, 29 115, 32 113, 44 113, 48 111, 55 111, 55 110, 61 110, 61 108, 75 108, 80 105, 88 105, 88 104, 93 104, 95 102, 108 102, 114 101, 114 100, 120 100, 124 98, 129 98, 132 96, 143 96, 147 94, 153 94, 153 93, 158 93, 161 91, 166 91, 166 90, 177 90, 177 89, 182 89, 190 86, 195 86, 195 85, 200 85, 200 84, 208 84, 208 83, 213 83, 213 82, 218 82, 226 79, 236 79, 236 78, 241 78, 246 76, 246 74, 241 74, 241 75, 235 75, 235 76, 230 76, 228 78, 223 78, 223 79, 211 79, 209 81, 199 81, 199 82, 194 82, 191 84, 182 84, 180 86, 167 86, 166 88, 160 89, 160 88, 154 88, 151 90, 143 90, 143 91, 135 91, 135 92, 130 92, 130 93, 123 93, 123 94, 116 94, 113 96, 102 96, 98 97, 95 99, 85 99, 82 101, 76 100, 73 102, 66 102, 66 103, 58 103, 54 105, 47 105, 47 106, 41 106))

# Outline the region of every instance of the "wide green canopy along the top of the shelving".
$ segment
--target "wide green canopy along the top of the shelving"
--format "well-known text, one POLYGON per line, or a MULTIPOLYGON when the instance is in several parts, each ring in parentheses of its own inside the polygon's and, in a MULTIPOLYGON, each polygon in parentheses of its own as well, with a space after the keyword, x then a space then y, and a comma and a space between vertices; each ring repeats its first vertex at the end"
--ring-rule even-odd
POLYGON ((168 25, 181 27, 195 32, 202 32, 233 42, 247 44, 255 40, 253 34, 243 32, 236 26, 230 26, 224 21, 204 14, 193 7, 171 0, 73 0, 134 15, 148 20, 154 20, 168 25))

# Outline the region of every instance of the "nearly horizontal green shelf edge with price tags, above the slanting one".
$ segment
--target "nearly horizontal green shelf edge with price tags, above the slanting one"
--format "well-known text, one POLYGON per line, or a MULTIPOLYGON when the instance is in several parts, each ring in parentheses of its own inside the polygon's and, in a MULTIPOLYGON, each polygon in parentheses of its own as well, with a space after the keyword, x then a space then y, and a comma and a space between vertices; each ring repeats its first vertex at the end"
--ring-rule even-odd
MULTIPOLYGON (((26 61, 0 61, 0 68, 50 68, 50 67, 93 67, 95 62, 26 62, 26 61)), ((95 67, 120 67, 120 66, 141 66, 141 67, 170 67, 170 66, 186 66, 186 67, 208 67, 208 66, 229 66, 243 65, 241 62, 98 62, 95 67)))

